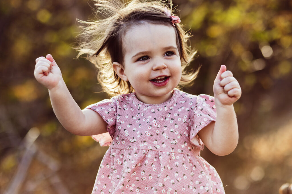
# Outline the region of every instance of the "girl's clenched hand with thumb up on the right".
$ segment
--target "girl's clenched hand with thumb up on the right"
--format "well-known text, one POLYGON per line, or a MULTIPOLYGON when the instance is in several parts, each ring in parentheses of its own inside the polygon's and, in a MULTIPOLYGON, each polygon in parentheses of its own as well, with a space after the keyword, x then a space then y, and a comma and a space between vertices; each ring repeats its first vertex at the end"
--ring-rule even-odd
MULTIPOLYGON (((213 85, 215 102, 221 105, 232 105, 241 96, 241 88, 231 71, 226 71, 226 66, 221 65, 213 85)), ((220 105, 219 104, 219 105, 220 105)))

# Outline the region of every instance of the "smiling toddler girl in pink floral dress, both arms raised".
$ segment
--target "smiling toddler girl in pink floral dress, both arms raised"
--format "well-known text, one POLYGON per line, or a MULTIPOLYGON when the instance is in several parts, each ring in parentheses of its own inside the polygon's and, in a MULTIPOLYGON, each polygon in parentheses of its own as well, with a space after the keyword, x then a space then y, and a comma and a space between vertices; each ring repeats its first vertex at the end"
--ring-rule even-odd
POLYGON ((168 5, 95 5, 105 19, 85 22, 86 42, 81 42, 79 56, 88 54, 104 91, 114 97, 81 110, 50 54, 36 59, 34 71, 49 89, 65 129, 110 145, 92 193, 225 193, 200 151, 206 145, 223 156, 235 149, 238 129, 232 104, 241 96, 237 80, 222 65, 214 97, 179 90, 197 75, 185 69, 195 52, 187 47, 189 36, 168 5))

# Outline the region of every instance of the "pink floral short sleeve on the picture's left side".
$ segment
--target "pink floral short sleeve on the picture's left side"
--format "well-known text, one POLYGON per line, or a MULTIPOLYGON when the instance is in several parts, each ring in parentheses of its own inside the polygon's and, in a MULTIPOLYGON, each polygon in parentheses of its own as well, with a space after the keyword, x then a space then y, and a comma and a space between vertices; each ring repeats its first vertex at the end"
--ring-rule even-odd
POLYGON ((117 105, 114 101, 114 98, 104 99, 98 103, 91 104, 86 108, 97 112, 102 117, 102 119, 107 123, 108 133, 93 135, 91 137, 94 140, 98 141, 101 146, 111 145, 116 128, 117 105))

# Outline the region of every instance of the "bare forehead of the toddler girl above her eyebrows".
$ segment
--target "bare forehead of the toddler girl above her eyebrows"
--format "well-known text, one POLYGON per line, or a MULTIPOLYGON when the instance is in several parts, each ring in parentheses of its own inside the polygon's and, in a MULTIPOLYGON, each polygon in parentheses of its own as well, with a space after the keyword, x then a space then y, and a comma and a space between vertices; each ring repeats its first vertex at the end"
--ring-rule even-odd
POLYGON ((175 29, 161 24, 133 25, 123 38, 125 56, 170 46, 177 47, 175 29))

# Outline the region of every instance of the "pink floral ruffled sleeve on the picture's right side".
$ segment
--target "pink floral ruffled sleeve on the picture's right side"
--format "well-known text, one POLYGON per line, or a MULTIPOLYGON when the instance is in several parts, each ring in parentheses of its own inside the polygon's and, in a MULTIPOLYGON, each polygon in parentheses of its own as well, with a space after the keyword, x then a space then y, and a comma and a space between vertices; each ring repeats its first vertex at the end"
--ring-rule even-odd
POLYGON ((210 122, 216 121, 216 108, 214 97, 200 94, 197 96, 194 108, 193 123, 191 125, 190 140, 194 145, 203 149, 204 144, 198 136, 198 132, 210 122))

